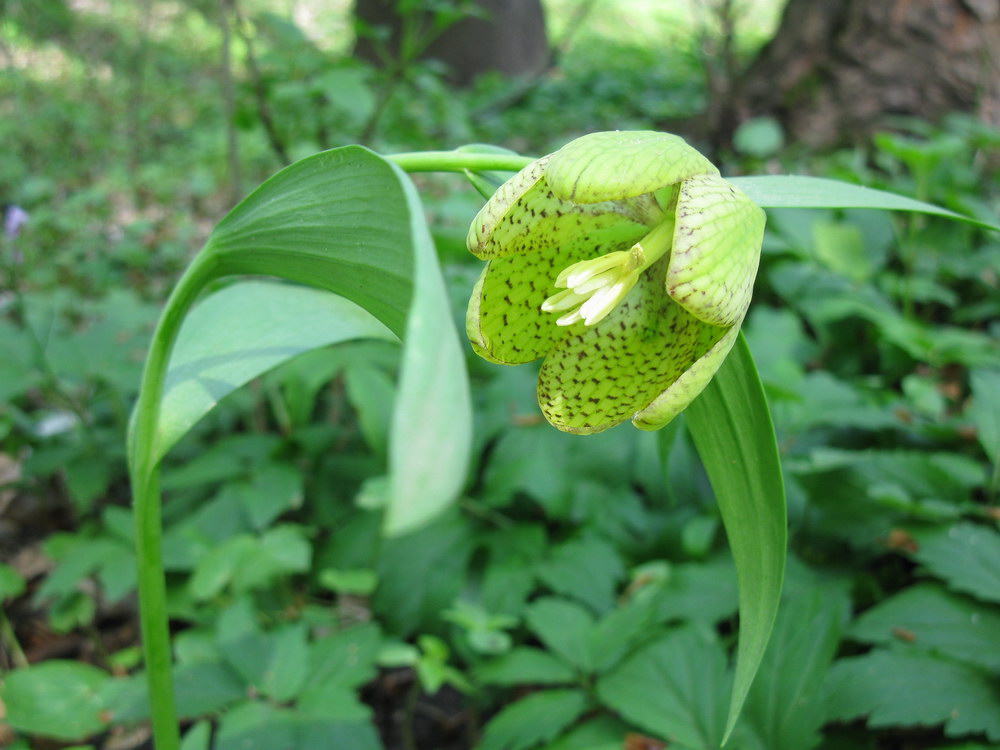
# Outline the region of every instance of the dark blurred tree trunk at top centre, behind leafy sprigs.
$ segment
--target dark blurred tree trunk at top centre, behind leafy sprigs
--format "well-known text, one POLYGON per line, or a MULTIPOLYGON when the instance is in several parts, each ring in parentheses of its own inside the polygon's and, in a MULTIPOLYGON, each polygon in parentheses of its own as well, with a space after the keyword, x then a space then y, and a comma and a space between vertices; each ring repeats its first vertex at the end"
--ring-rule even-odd
MULTIPOLYGON (((540 0, 476 0, 476 5, 485 17, 466 17, 448 27, 421 57, 445 63, 459 85, 488 71, 523 76, 545 67, 549 48, 540 0)), ((355 14, 371 26, 388 28, 389 50, 398 56, 402 21, 395 8, 395 0, 357 0, 355 14)), ((355 54, 380 62, 367 39, 358 41, 355 54)))

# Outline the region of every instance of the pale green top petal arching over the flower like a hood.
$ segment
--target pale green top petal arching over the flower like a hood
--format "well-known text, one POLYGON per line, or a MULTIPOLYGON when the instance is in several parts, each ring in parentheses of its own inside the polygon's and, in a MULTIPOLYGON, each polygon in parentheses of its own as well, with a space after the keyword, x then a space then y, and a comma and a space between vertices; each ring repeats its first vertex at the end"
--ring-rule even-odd
POLYGON ((655 193, 699 174, 719 174, 683 138, 648 130, 591 133, 549 157, 545 179, 557 199, 597 203, 655 193))

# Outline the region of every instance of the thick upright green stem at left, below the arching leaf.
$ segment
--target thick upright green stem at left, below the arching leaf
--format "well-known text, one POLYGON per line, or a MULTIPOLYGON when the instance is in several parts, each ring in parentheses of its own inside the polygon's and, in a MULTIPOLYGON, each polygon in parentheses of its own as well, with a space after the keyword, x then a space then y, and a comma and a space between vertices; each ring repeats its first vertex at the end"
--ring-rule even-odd
POLYGON ((142 628, 149 706, 156 750, 178 750, 180 728, 174 706, 173 671, 170 655, 170 623, 167 616, 167 586, 162 560, 159 450, 157 432, 160 402, 173 350, 184 316, 202 289, 216 278, 216 262, 209 248, 188 266, 156 326, 142 387, 129 434, 129 473, 135 506, 136 554, 139 575, 139 620, 142 628))

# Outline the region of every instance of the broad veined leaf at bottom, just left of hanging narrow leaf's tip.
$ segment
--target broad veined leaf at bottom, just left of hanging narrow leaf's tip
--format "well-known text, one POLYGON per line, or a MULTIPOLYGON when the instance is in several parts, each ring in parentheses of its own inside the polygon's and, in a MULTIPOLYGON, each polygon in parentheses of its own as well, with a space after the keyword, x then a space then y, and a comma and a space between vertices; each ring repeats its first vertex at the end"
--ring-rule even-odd
POLYGON ((694 626, 671 631, 597 683, 603 704, 685 750, 718 750, 728 690, 725 652, 694 626))

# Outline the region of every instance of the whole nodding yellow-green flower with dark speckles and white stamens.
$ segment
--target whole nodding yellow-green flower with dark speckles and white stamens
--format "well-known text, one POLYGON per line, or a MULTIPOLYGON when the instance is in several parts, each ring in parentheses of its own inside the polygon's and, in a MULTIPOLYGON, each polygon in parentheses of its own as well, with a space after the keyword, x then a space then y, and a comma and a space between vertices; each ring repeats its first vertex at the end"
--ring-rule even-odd
POLYGON ((739 333, 764 212, 681 138, 578 138, 504 183, 469 230, 487 260, 466 329, 482 357, 545 357, 538 403, 567 432, 657 429, 739 333))

